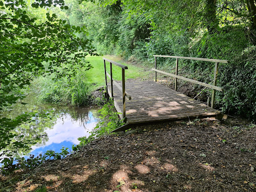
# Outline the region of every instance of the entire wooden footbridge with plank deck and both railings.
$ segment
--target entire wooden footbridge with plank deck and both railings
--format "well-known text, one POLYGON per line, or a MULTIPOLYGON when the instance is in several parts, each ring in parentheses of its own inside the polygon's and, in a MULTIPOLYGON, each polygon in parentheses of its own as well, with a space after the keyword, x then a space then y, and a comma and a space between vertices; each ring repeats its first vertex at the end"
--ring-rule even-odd
POLYGON ((228 63, 227 60, 180 57, 180 56, 155 56, 155 81, 128 81, 125 82, 125 70, 127 66, 121 65, 115 61, 103 58, 105 70, 105 84, 110 97, 114 99, 114 104, 121 119, 127 122, 123 127, 119 127, 117 131, 129 129, 131 125, 137 125, 145 122, 166 121, 193 117, 207 117, 220 114, 214 109, 215 92, 223 91, 222 88, 216 86, 218 65, 219 63, 228 63), (167 73, 157 69, 157 57, 176 58, 176 74, 167 73), (215 62, 215 71, 213 84, 199 82, 178 75, 179 59, 202 60, 215 62), (106 71, 106 61, 110 63, 110 74, 106 71), (122 81, 113 80, 112 65, 121 68, 122 81), (175 77, 175 90, 172 90, 160 83, 157 83, 157 72, 175 77), (110 78, 110 81, 107 80, 110 78), (200 84, 206 88, 212 89, 211 106, 203 104, 195 99, 177 92, 177 79, 200 84), (126 99, 125 99, 126 97, 126 99))

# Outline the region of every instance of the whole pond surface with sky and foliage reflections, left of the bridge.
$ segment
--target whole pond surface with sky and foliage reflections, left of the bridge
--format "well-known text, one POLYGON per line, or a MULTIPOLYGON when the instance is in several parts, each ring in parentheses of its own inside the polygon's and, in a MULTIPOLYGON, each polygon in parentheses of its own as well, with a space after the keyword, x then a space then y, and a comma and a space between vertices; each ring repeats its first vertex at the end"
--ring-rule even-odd
POLYGON ((59 153, 63 146, 72 150, 72 145, 79 144, 78 138, 89 136, 89 132, 98 122, 98 108, 37 103, 33 95, 26 97, 23 102, 27 104, 17 103, 14 109, 4 116, 14 118, 28 112, 49 113, 50 116, 34 117, 35 121, 16 127, 16 133, 24 135, 24 140, 40 136, 37 143, 31 146, 30 151, 24 153, 21 149, 14 154, 16 157, 25 156, 27 158, 29 154, 37 156, 48 150, 59 153))

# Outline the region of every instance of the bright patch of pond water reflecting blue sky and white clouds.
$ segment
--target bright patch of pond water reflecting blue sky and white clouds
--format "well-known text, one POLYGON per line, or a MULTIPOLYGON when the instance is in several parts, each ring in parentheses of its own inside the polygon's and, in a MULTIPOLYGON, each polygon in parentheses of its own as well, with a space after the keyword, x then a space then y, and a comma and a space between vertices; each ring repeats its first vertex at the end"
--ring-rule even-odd
POLYGON ((97 109, 94 108, 58 109, 52 126, 45 129, 46 136, 42 138, 42 142, 32 146, 30 154, 37 156, 48 150, 60 152, 63 146, 72 149, 72 145, 80 142, 77 138, 89 136, 89 132, 96 126, 96 112, 97 109))

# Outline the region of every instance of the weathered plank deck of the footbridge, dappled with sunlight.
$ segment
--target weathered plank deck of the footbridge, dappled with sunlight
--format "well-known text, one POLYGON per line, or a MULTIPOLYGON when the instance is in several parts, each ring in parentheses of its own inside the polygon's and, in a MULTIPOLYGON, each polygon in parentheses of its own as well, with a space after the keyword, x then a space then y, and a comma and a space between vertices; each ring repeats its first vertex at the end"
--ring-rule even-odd
MULTIPOLYGON (((109 94, 110 90, 108 85, 109 94)), ((220 114, 219 111, 155 81, 125 82, 125 91, 132 96, 132 100, 126 98, 125 101, 129 124, 220 114)), ((122 93, 114 84, 113 92, 115 107, 122 113, 122 93)))

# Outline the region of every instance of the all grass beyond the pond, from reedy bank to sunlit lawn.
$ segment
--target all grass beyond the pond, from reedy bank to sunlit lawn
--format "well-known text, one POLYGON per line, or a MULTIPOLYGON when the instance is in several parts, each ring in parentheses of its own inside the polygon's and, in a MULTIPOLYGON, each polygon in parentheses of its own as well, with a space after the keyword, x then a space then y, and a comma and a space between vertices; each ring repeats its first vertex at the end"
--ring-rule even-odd
MULTIPOLYGON (((116 60, 116 58, 108 57, 116 60)), ((92 90, 105 85, 104 65, 102 57, 87 56, 86 60, 92 65, 92 69, 77 71, 72 78, 63 76, 56 78, 53 73, 40 76, 31 83, 31 90, 37 94, 40 102, 70 104, 75 106, 88 105, 92 90)), ((124 65, 126 65, 124 63, 124 65)), ((127 65, 129 70, 125 71, 125 78, 146 78, 143 69, 133 65, 127 65)), ((109 63, 106 69, 109 71, 109 63)), ((121 80, 121 68, 113 66, 113 77, 121 80)))

